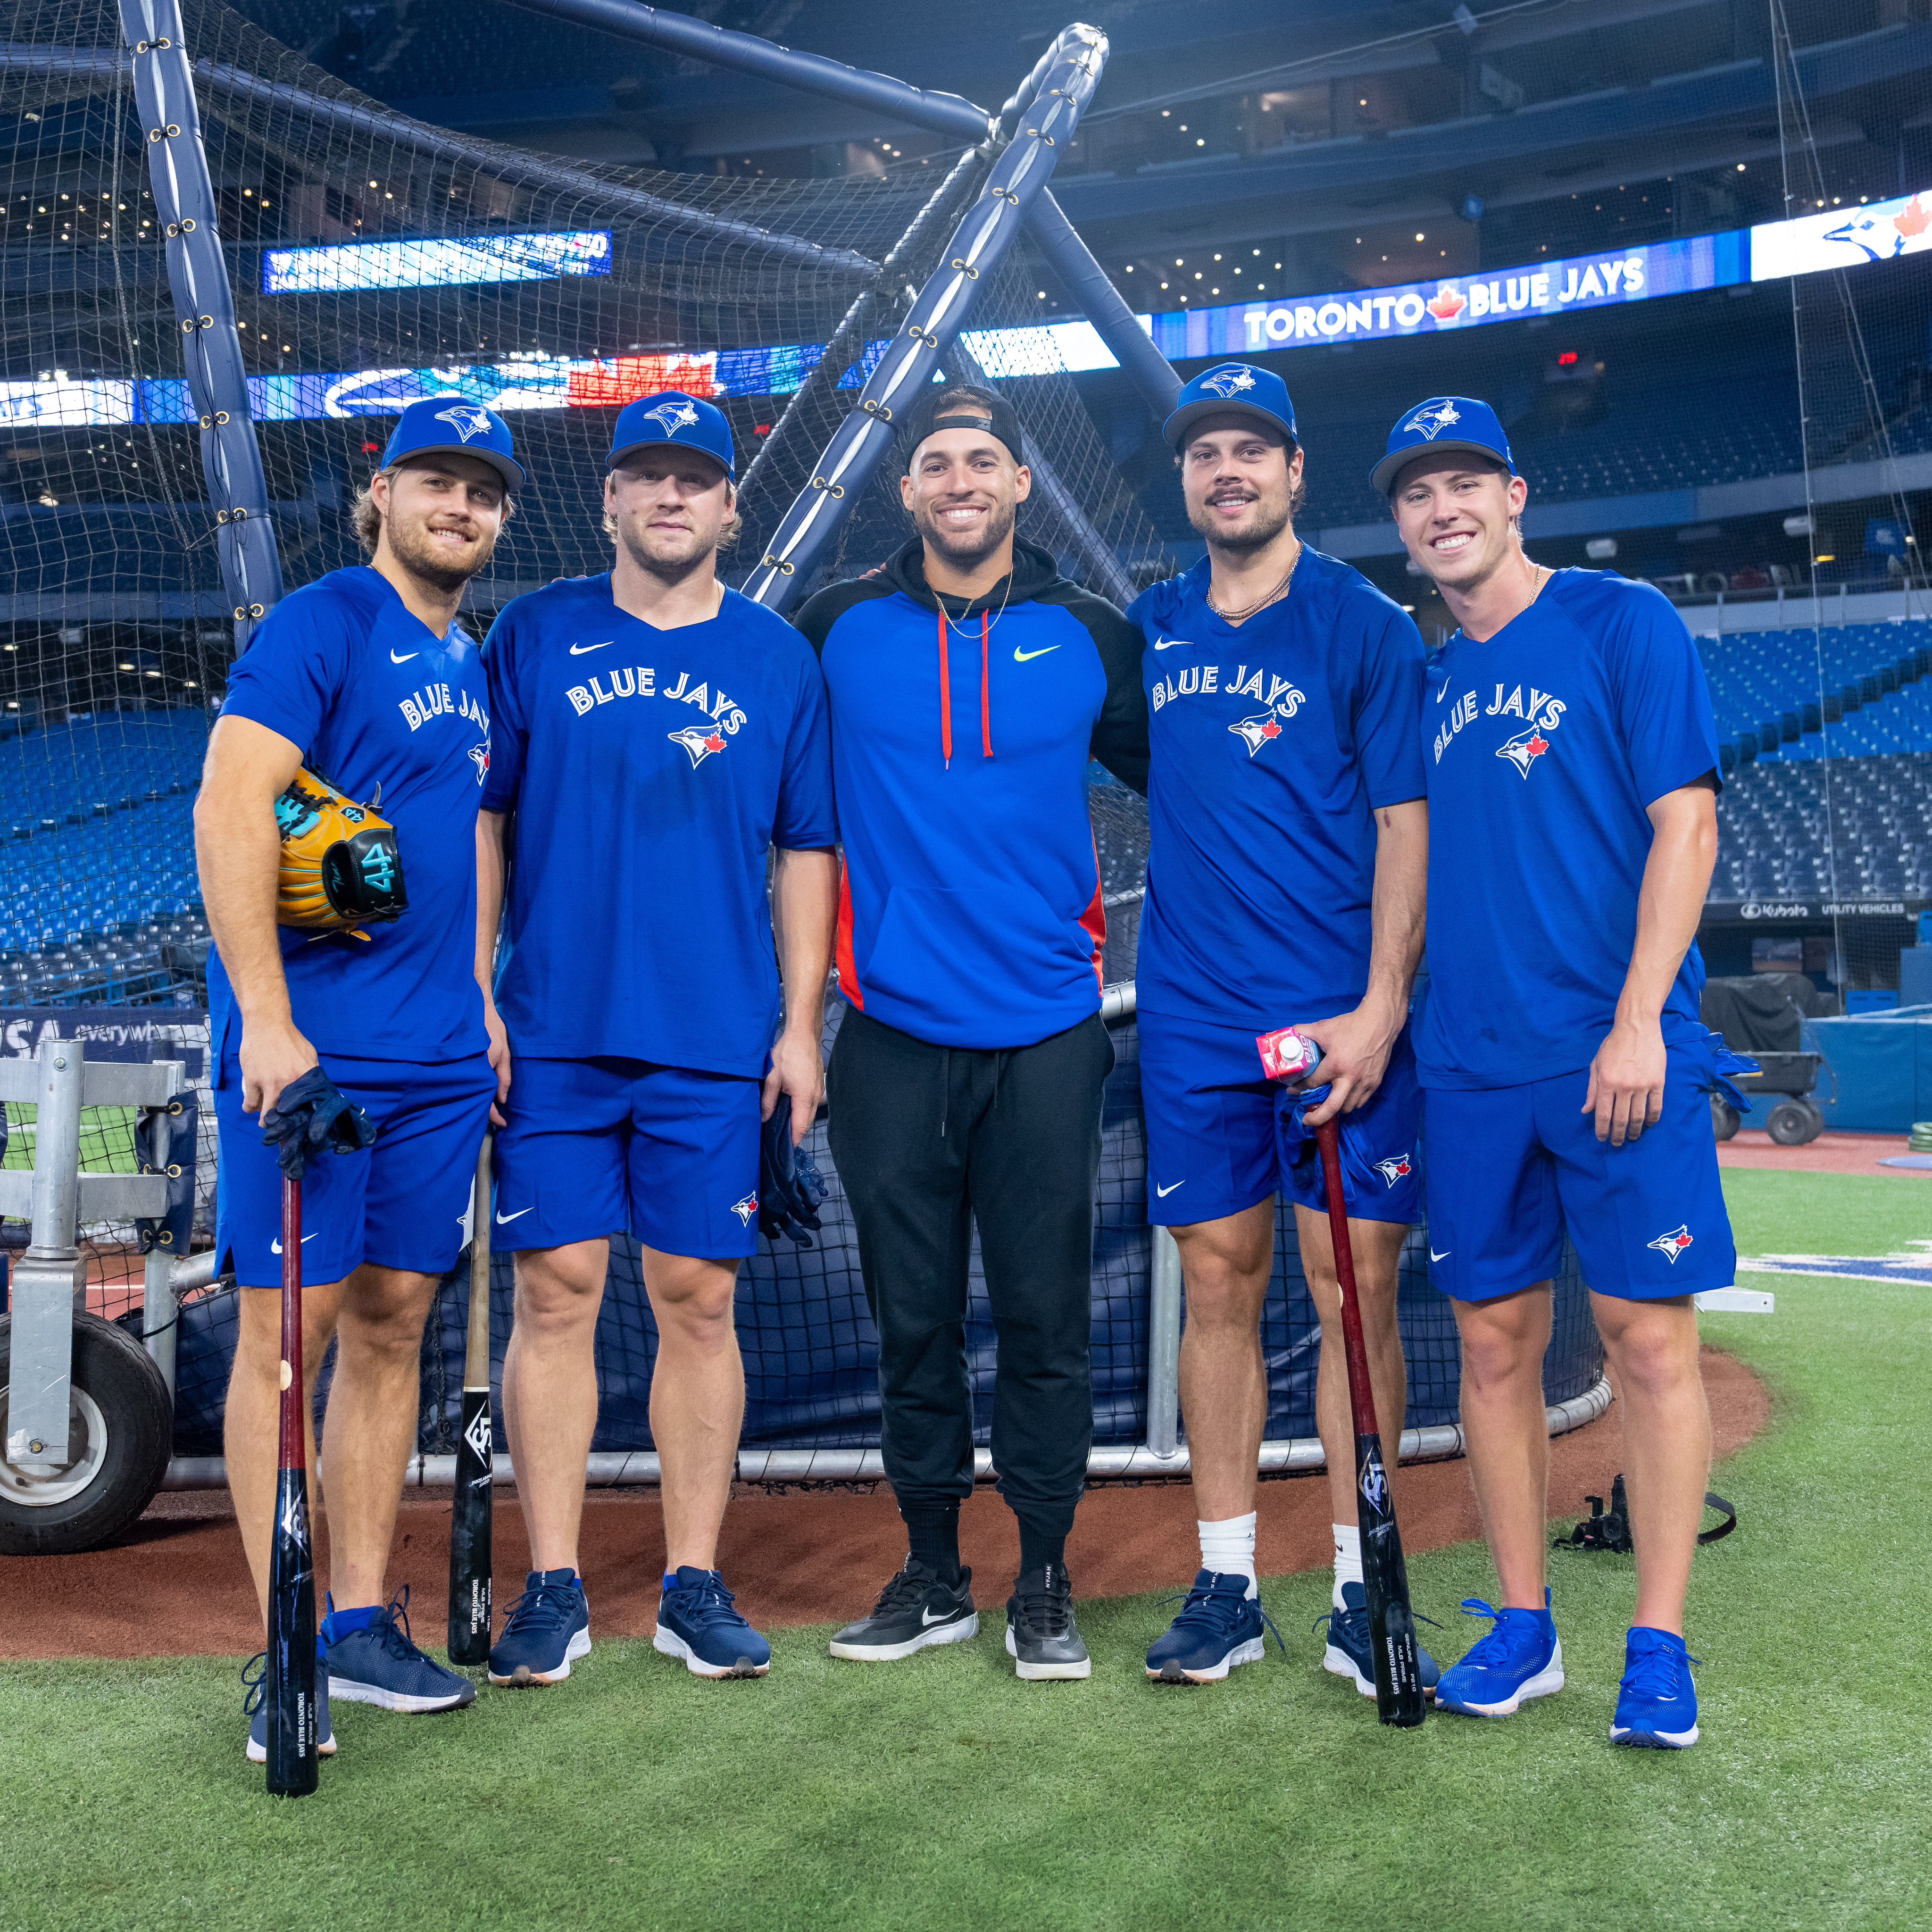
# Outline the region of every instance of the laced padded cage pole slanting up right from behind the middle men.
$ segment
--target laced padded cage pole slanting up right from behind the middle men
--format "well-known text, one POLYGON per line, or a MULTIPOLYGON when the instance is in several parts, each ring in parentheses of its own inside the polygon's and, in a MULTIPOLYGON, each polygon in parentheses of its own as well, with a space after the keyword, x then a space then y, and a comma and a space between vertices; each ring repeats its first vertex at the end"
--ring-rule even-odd
POLYGON ((939 269, 879 357, 856 408, 825 444, 817 473, 792 500, 763 558, 746 578, 744 593, 753 603, 782 614, 804 593, 813 562, 891 446, 895 412, 931 381, 966 327, 985 276, 1001 263, 1026 209, 1047 185, 1105 66, 1107 37, 1097 27, 1076 23, 1053 43, 1053 60, 1032 106, 1018 116, 1012 143, 954 230, 952 245, 943 251, 939 269))

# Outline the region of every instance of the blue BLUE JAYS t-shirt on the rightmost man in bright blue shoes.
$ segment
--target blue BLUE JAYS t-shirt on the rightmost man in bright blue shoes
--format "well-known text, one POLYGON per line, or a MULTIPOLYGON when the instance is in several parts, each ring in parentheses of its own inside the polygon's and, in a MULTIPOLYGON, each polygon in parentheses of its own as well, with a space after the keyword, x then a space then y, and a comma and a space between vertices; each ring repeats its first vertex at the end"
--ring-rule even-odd
MULTIPOLYGON (((1650 858, 1648 808, 1718 771, 1696 645, 1648 583, 1557 570, 1486 643, 1428 667, 1430 989, 1422 1084, 1577 1072, 1617 1016, 1650 858)), ((1685 954, 1665 1041, 1698 1026, 1685 954)))

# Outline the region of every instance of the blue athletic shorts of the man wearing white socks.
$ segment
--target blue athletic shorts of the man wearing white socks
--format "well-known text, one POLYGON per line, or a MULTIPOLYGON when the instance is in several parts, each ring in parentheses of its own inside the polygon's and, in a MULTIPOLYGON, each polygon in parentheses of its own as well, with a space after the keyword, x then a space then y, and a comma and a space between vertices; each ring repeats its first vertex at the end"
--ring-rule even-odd
MULTIPOLYGON (((1271 1194, 1327 1209, 1320 1163, 1296 1186, 1275 1146, 1281 1086, 1262 1076, 1254 1034, 1235 1026, 1140 1014, 1140 1099, 1148 1119, 1148 1219, 1192 1227, 1240 1213, 1271 1194)), ((1356 1221, 1420 1221, 1422 1090, 1408 1028, 1366 1107, 1343 1115, 1381 1194, 1349 1204, 1356 1221)))

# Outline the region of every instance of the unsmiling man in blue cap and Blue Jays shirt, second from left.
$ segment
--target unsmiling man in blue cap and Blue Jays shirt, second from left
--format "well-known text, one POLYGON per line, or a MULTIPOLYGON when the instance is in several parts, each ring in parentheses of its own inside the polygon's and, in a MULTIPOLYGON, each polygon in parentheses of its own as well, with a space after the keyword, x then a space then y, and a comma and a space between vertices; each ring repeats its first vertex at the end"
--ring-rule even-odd
POLYGON ((516 1252, 502 1401, 531 1553, 493 1683, 556 1683, 591 1646, 578 1522, 620 1229, 659 1337, 657 1648, 701 1677, 771 1663, 717 1569, 744 1424, 732 1298, 757 1248, 759 1122, 784 1107, 802 1140, 825 1084, 838 829, 817 661, 717 578, 734 477, 713 404, 630 404, 605 466, 614 566, 516 599, 483 649, 477 974, 495 958, 493 1235, 516 1252))

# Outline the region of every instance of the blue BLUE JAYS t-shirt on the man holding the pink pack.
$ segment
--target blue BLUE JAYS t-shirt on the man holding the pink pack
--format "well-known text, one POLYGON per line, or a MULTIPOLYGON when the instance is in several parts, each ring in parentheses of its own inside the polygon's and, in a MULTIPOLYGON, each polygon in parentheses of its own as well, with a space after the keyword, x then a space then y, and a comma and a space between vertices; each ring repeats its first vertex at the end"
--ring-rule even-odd
POLYGON ((1368 991, 1376 811, 1424 790, 1422 636, 1314 549, 1244 624, 1208 609, 1206 558, 1128 616, 1153 748, 1138 1003, 1254 1034, 1347 1012, 1368 991))

